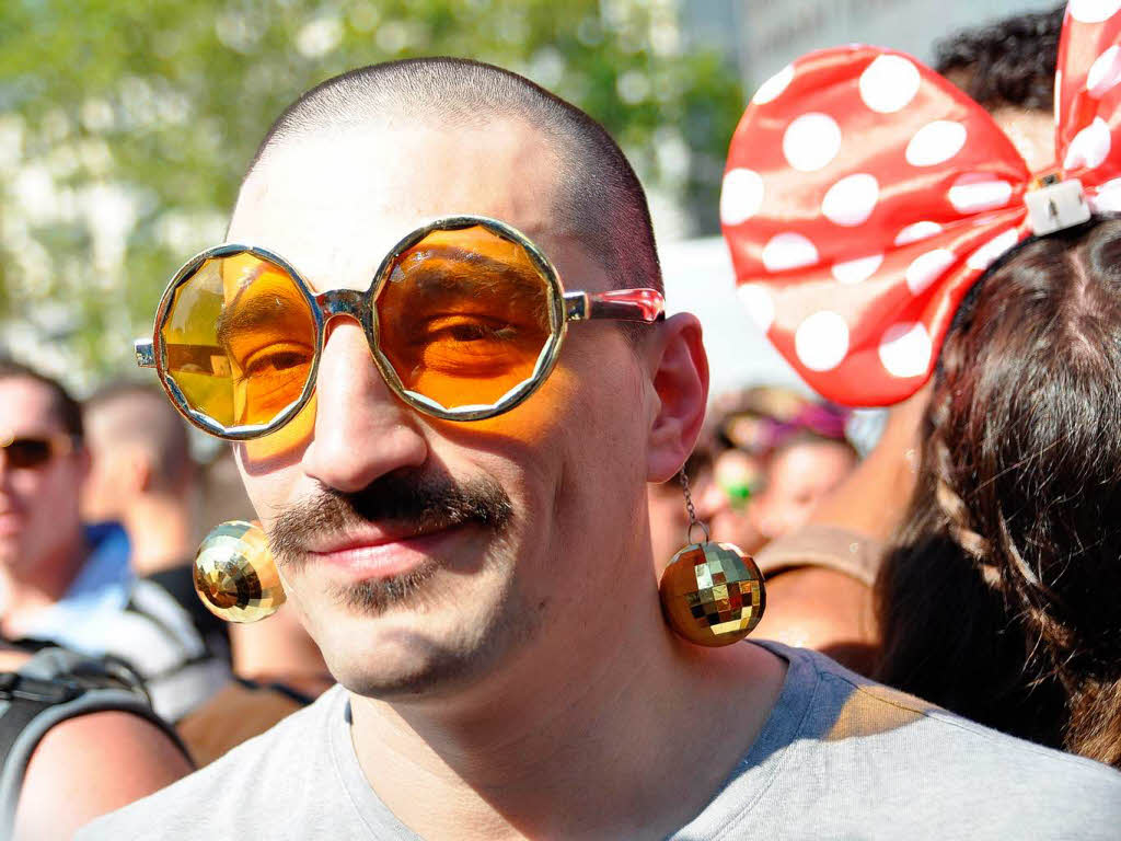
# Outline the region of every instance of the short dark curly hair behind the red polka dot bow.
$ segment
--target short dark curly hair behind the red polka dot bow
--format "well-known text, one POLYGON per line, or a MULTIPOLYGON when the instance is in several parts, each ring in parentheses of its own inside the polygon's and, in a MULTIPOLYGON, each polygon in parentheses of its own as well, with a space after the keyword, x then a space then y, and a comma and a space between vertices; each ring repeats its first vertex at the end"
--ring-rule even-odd
POLYGON ((935 70, 990 111, 1050 111, 1065 8, 963 29, 935 46, 935 70))

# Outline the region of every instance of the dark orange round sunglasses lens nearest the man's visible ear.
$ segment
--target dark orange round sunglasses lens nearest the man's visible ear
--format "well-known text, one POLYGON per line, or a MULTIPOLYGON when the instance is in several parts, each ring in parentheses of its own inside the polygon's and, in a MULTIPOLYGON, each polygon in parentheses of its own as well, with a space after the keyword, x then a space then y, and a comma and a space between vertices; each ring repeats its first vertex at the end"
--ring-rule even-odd
POLYGON ((435 231, 397 259, 378 295, 380 349, 414 397, 493 406, 532 381, 555 296, 521 244, 479 225, 435 231))

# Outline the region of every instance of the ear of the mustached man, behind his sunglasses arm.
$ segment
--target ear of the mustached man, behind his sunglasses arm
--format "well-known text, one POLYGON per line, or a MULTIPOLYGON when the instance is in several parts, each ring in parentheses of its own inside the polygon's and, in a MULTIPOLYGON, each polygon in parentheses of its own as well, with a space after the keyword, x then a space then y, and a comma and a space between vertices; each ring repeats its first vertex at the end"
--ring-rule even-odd
POLYGON ((693 452, 708 399, 708 357, 692 313, 667 318, 650 342, 659 406, 650 426, 646 480, 665 482, 693 452))

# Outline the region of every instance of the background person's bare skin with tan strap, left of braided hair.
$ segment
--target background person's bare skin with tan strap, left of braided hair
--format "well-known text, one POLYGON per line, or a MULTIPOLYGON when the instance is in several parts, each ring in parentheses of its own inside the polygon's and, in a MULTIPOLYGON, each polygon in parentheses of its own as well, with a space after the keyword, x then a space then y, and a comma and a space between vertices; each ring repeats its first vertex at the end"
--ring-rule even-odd
POLYGON ((876 665, 879 634, 872 582, 883 544, 910 502, 929 387, 893 407, 872 451, 793 535, 760 553, 780 572, 767 580, 756 636, 814 648, 863 674, 876 665), (831 555, 836 567, 819 563, 831 555))

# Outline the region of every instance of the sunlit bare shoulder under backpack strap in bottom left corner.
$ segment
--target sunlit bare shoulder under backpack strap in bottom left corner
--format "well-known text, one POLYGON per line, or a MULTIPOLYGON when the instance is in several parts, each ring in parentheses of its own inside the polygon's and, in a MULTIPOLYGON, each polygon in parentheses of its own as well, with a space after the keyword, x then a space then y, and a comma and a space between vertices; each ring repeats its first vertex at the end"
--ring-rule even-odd
POLYGON ((70 839, 94 817, 189 774, 158 727, 129 712, 78 715, 53 727, 28 764, 16 839, 70 839))

